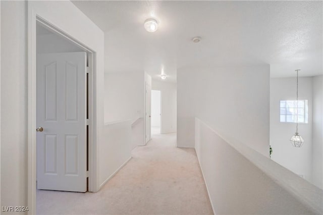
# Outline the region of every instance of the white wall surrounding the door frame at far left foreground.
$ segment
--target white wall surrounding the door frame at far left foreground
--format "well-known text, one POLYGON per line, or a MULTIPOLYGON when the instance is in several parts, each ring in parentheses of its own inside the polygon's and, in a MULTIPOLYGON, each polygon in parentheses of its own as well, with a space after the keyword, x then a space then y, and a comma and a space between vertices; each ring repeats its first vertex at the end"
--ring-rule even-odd
MULTIPOLYGON (((68 1, 1 1, 1 206, 27 206, 28 9, 96 52, 96 93, 103 95, 103 32, 68 1), (67 19, 68 17, 68 19, 67 19), (5 80, 5 81, 4 81, 5 80), (13 87, 14 86, 14 87, 13 87), (5 117, 6 116, 6 117, 5 117), (12 129, 15 128, 15 129, 12 129), (6 195, 4 195, 4 193, 6 195)), ((95 99, 97 150, 104 143, 103 97, 95 99)), ((100 157, 97 158, 100 162, 100 157)), ((30 208, 34 210, 35 208, 30 208)))

